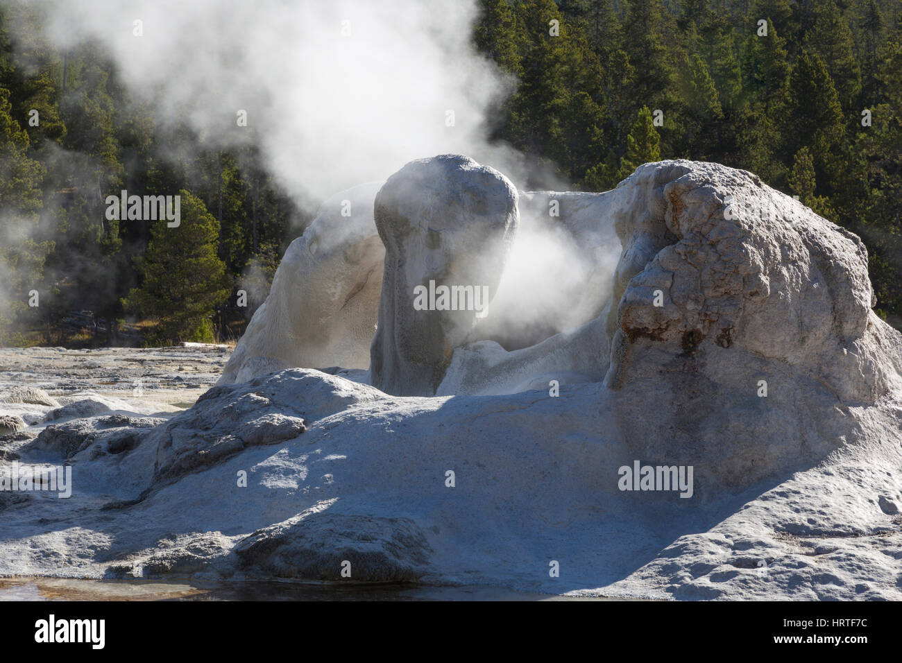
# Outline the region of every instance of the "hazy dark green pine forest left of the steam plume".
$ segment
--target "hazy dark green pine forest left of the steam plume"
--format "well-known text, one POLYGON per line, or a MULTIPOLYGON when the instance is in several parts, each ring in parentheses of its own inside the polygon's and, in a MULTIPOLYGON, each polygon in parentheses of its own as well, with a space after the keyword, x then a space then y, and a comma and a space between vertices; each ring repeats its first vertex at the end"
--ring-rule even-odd
MULTIPOLYGON (((233 285, 258 264, 254 287, 264 297, 272 254, 281 255, 292 238, 289 219, 297 212, 253 150, 199 145, 187 129, 158 127, 103 51, 91 44, 58 51, 32 7, 0 2, 0 344, 21 340, 16 328, 58 327, 71 310, 92 311, 107 329, 95 341, 115 343, 130 292, 143 293, 132 303, 163 320, 150 335, 155 342, 209 339, 211 329, 220 333, 233 285), (173 154, 172 145, 184 153, 173 154), (106 216, 106 197, 122 189, 137 196, 186 189, 207 204, 216 219, 216 261, 193 264, 216 300, 205 299, 203 311, 188 307, 189 318, 176 320, 150 307, 150 293, 163 296, 148 283, 153 261, 143 263, 154 253, 155 226, 106 216), (27 304, 32 290, 38 308, 27 304)), ((170 238, 156 244, 163 239, 170 238)))

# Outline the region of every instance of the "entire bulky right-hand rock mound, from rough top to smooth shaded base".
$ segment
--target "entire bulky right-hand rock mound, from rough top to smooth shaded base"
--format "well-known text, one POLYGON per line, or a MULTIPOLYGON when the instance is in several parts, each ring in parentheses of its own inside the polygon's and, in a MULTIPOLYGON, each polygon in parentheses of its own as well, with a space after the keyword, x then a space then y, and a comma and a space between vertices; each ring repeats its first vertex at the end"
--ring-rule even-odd
POLYGON ((902 354, 861 240, 716 164, 646 164, 621 189, 606 382, 636 455, 719 457, 703 481, 747 484, 865 444, 851 411, 902 390, 902 354))

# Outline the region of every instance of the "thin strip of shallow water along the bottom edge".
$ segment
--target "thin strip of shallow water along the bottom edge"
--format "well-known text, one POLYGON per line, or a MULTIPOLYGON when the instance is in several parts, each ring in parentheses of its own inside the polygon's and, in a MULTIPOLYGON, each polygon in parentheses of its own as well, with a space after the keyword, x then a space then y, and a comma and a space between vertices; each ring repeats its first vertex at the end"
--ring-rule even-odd
POLYGON ((597 601, 498 587, 0 578, 0 601, 597 601))

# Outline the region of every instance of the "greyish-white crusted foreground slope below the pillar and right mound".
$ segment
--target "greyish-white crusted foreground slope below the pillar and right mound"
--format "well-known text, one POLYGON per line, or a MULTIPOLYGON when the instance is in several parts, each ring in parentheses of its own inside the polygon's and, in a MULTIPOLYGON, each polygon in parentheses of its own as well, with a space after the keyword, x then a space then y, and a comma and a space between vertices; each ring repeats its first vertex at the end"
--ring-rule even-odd
MULTIPOLYGON (((610 394, 582 385, 559 398, 397 398, 295 369, 217 387, 158 428, 81 419, 70 427, 96 437, 65 461, 71 498, 5 493, 24 501, 5 503, 0 574, 339 581, 348 559, 359 580, 902 598, 902 454, 883 432, 899 426, 898 402, 860 413, 873 443, 740 493, 696 485, 681 499, 618 490, 633 455, 611 425, 610 394), (131 450, 115 451, 135 432, 131 450)), ((69 437, 57 430, 4 448, 60 463, 69 437)))

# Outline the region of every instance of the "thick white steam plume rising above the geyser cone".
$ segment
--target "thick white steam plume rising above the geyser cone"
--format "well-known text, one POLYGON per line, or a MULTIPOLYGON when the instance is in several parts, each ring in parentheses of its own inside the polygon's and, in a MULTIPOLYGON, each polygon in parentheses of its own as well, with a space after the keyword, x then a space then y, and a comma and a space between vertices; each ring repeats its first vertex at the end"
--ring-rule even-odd
POLYGON ((292 196, 322 200, 443 152, 518 177, 515 152, 485 140, 512 82, 475 53, 470 0, 35 5, 58 47, 103 44, 161 124, 188 124, 207 147, 256 143, 292 196))

